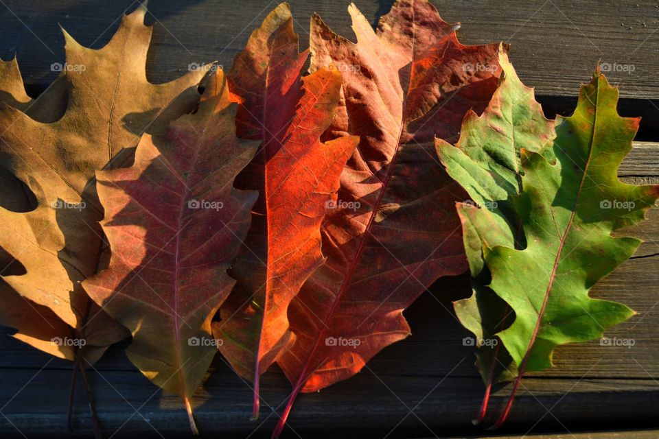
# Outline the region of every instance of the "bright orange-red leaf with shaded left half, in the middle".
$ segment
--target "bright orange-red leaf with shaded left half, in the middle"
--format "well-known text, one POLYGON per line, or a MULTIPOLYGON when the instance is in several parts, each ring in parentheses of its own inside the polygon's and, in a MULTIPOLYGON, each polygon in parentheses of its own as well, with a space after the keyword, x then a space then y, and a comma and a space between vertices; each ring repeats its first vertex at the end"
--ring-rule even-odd
POLYGON ((237 187, 260 195, 231 270, 238 285, 213 331, 234 370, 254 382, 253 418, 259 414, 259 376, 294 342, 288 304, 323 263, 321 222, 358 141, 320 141, 334 117, 340 75, 320 69, 301 78, 307 57, 308 51, 298 52, 290 9, 282 3, 253 32, 228 75, 240 103, 239 136, 262 142, 237 187))

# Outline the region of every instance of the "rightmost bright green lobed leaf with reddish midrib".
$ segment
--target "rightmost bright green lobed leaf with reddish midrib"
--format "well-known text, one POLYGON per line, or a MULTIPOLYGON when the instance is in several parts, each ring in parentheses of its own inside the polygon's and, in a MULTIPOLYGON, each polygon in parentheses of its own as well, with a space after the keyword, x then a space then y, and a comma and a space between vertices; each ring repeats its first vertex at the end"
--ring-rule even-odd
POLYGON ((505 421, 522 375, 553 366, 555 346, 597 339, 634 315, 625 305, 588 296, 640 244, 612 231, 643 220, 659 196, 659 187, 618 180, 640 119, 619 117, 617 103, 618 89, 598 69, 581 87, 575 113, 555 122, 555 161, 522 149, 522 191, 510 199, 526 248, 484 243, 489 287, 516 314, 496 334, 518 375, 493 428, 505 421))

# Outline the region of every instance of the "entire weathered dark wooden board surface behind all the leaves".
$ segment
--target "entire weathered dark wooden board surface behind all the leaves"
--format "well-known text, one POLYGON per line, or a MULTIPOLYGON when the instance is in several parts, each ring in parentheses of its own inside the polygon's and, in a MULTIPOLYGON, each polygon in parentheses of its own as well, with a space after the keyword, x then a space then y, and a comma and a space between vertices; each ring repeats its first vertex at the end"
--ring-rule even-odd
MULTIPOLYGON (((150 51, 151 80, 172 79, 190 62, 218 60, 228 67, 251 29, 275 3, 152 0, 149 20, 159 23, 150 51)), ((337 32, 352 35, 345 12, 349 0, 290 3, 303 41, 308 16, 314 11, 337 32)), ((391 1, 357 3, 366 16, 375 17, 386 12, 391 1)), ((27 82, 38 90, 54 78, 51 62, 63 60, 57 23, 80 43, 101 47, 126 8, 135 8, 135 2, 3 0, 0 56, 7 59, 15 51, 27 82)), ((512 43, 511 58, 520 76, 543 95, 540 100, 549 114, 570 112, 579 84, 588 80, 598 59, 634 65, 634 72, 612 73, 609 78, 621 84, 625 97, 621 112, 645 118, 640 138, 659 141, 654 131, 659 127, 657 1, 517 0, 502 5, 500 1, 450 0, 441 3, 440 12, 447 21, 463 23, 465 43, 512 43)), ((659 147, 636 143, 618 174, 636 184, 659 182, 659 147)), ((603 346, 594 341, 558 348, 556 368, 523 381, 503 434, 659 427, 659 209, 648 217, 630 230, 645 240, 634 258, 592 292, 594 297, 618 300, 639 311, 607 333, 611 339, 633 340, 634 346, 603 346)), ((481 402, 483 383, 472 365, 473 348, 463 346, 463 337, 469 334, 456 322, 450 303, 468 294, 466 276, 439 281, 405 313, 413 336, 386 348, 356 377, 318 394, 302 395, 286 437, 484 437, 483 429, 470 423, 481 402)), ((65 436, 71 366, 6 333, 7 329, 0 329, 0 436, 65 436)), ((124 347, 111 348, 90 373, 106 437, 115 432, 114 438, 135 434, 188 437, 181 402, 161 394, 142 377, 126 359, 124 347)), ((205 390, 194 398, 203 433, 222 438, 269 437, 276 415, 264 407, 262 420, 249 421, 249 385, 219 355, 211 372, 205 390)), ((290 392, 277 368, 266 373, 262 387, 265 401, 274 408, 290 392)), ((493 416, 509 388, 496 390, 493 416)), ((75 435, 86 438, 90 432, 86 402, 78 392, 75 435)), ((659 433, 575 433, 575 437, 645 439, 657 438, 659 433)))

